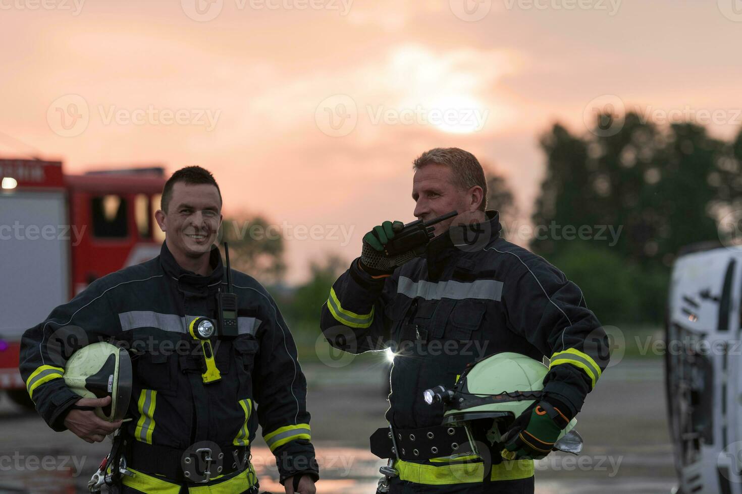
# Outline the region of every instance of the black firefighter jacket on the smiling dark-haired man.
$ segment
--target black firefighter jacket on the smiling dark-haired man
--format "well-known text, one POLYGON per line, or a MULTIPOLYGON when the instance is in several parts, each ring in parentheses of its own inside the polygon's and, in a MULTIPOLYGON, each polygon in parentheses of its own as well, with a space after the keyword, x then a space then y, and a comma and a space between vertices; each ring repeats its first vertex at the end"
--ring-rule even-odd
POLYGON ((180 450, 197 441, 247 446, 260 423, 281 481, 295 473, 316 477, 306 379, 291 333, 266 290, 236 270, 239 336, 212 340, 222 378, 203 383, 203 354, 187 328, 197 316, 216 318, 216 294, 226 288, 218 249, 210 262, 210 276, 183 270, 163 242, 160 256, 93 281, 27 330, 20 370, 36 410, 53 430, 65 430, 79 399, 62 378, 71 354, 65 345, 114 338, 132 354, 133 420, 122 426, 130 437, 180 450))

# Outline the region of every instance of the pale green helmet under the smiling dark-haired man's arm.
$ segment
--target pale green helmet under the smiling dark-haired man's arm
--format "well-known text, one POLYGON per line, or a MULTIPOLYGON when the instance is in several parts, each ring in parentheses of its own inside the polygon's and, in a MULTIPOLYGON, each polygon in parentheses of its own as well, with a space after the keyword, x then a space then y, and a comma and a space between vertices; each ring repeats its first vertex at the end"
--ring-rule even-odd
POLYGON ((82 398, 111 396, 111 404, 95 414, 109 422, 126 415, 131 399, 131 358, 114 344, 100 341, 72 354, 65 366, 65 384, 82 398))

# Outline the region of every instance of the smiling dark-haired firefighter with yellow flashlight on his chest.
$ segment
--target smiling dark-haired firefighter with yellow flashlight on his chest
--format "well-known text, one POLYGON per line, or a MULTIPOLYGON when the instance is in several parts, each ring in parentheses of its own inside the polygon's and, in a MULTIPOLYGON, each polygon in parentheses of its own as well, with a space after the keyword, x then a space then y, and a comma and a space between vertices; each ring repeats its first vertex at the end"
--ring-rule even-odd
POLYGON ((94 281, 24 333, 20 370, 39 414, 88 442, 115 433, 88 487, 257 494, 257 426, 286 494, 315 494, 306 379, 275 301, 226 267, 217 182, 185 167, 155 213, 160 256, 94 281))

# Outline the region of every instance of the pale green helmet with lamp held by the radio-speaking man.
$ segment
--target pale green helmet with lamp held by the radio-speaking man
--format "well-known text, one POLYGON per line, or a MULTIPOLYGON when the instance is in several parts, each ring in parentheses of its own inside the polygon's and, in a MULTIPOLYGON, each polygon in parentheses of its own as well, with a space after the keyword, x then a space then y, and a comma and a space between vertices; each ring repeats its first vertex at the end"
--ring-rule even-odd
MULTIPOLYGON (((488 436, 499 434, 534 402, 541 399, 548 372, 541 362, 520 353, 498 353, 471 367, 456 381, 453 390, 442 386, 424 393, 428 404, 444 402, 443 424, 470 428, 472 421, 486 421, 488 436)), ((555 447, 568 453, 582 450, 582 438, 572 418, 557 438, 555 447), (566 437, 565 437, 566 436, 566 437)))

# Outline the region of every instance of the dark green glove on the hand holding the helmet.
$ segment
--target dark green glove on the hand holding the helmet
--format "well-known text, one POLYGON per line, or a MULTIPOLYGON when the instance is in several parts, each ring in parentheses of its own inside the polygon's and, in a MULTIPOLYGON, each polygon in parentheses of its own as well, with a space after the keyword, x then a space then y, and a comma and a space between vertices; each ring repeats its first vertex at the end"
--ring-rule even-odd
POLYGON ((542 399, 528 407, 502 435, 505 445, 500 452, 502 458, 538 460, 551 453, 559 433, 570 421, 563 412, 569 413, 568 407, 553 398, 542 399))

